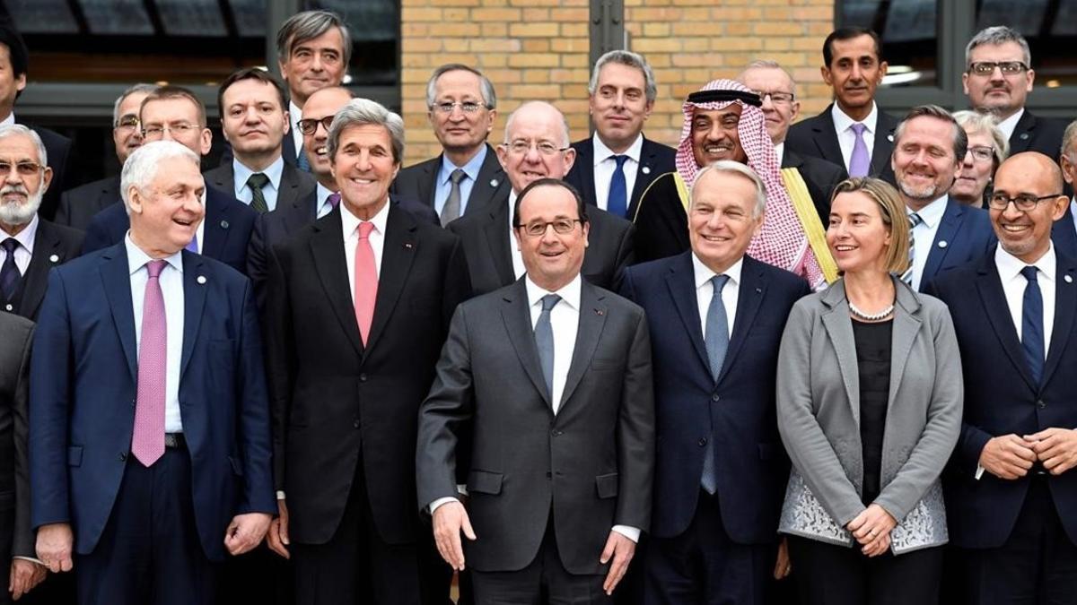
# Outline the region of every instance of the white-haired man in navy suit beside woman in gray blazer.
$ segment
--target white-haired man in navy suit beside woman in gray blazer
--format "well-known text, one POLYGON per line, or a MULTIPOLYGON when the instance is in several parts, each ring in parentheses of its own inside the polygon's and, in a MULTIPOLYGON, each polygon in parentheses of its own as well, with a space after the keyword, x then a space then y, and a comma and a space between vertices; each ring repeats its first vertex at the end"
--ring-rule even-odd
POLYGON ((788 460, 774 418, 785 318, 810 293, 745 256, 766 189, 717 161, 691 188, 691 251, 625 270, 620 292, 651 326, 658 427, 647 604, 761 604, 774 562, 788 460), (721 284, 721 285, 718 285, 721 284))

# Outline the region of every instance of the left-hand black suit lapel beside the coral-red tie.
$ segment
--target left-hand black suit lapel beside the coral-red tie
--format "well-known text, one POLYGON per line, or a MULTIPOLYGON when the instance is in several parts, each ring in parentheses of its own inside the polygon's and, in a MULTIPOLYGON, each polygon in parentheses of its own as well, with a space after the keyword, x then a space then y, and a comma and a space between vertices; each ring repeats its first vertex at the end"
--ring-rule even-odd
MULTIPOLYGON (((359 356, 363 355, 363 342, 359 337, 359 324, 355 323, 355 306, 348 292, 348 262, 345 259, 342 227, 340 226, 340 208, 330 212, 324 221, 313 224, 314 234, 310 238, 311 264, 318 271, 318 278, 325 289, 330 307, 336 313, 340 327, 348 335, 348 340, 355 348, 359 356)), ((375 304, 376 305, 376 304, 375 304)), ((377 308, 377 307, 375 307, 377 308)), ((375 311, 375 314, 377 311, 375 311)))

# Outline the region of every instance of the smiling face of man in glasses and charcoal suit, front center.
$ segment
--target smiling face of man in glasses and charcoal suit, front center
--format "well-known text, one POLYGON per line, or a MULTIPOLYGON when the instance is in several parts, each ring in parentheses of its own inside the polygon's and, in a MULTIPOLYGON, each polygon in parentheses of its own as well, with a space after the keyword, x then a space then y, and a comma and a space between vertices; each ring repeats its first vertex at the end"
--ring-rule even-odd
POLYGON ((559 234, 550 225, 541 236, 528 235, 527 226, 578 219, 576 198, 564 187, 540 185, 520 200, 521 226, 513 229, 513 233, 528 277, 540 287, 554 292, 579 275, 579 268, 584 265, 584 252, 587 250, 589 225, 574 222, 568 234, 559 234))

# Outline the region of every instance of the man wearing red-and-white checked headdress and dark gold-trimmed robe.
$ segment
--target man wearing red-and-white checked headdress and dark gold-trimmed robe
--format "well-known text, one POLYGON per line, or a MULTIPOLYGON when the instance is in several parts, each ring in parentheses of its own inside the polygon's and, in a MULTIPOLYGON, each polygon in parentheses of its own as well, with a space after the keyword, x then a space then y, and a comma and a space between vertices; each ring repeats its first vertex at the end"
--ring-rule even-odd
POLYGON ((733 159, 755 170, 767 188, 766 219, 747 254, 806 278, 814 290, 826 284, 803 223, 785 192, 760 104, 757 95, 732 80, 715 80, 688 96, 677 170, 655 179, 633 217, 637 261, 688 250, 687 187, 705 164, 733 159))

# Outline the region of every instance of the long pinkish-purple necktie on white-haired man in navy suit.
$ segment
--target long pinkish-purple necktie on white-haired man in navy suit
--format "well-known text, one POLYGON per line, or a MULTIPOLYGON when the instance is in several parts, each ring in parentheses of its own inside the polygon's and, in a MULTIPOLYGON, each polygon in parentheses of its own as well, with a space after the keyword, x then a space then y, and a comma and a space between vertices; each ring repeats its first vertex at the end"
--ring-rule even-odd
POLYGON ((168 365, 168 323, 165 297, 160 294, 160 271, 165 261, 145 265, 150 279, 142 298, 142 339, 138 348, 138 400, 135 405, 135 434, 131 453, 151 466, 165 454, 165 377, 168 365))

